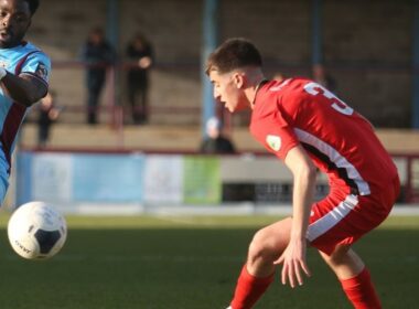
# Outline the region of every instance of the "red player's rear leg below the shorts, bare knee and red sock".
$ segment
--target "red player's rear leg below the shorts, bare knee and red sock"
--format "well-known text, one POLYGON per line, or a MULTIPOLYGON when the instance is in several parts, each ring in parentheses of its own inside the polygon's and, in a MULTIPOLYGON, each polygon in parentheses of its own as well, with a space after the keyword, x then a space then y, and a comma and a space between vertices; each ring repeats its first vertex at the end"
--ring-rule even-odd
POLYGON ((332 255, 320 252, 342 284, 354 308, 379 309, 379 298, 374 288, 368 269, 361 257, 348 245, 340 245, 332 255))

